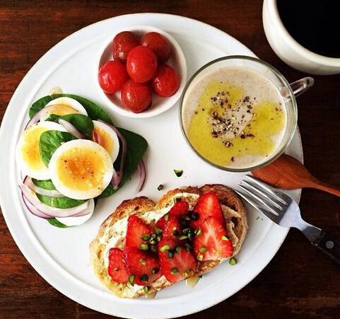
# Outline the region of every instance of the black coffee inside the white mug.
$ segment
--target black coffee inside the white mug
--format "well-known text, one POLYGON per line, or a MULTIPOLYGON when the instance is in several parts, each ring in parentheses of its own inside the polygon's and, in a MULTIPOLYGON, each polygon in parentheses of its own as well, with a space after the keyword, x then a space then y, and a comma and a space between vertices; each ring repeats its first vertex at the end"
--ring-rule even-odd
POLYGON ((340 0, 277 0, 288 33, 306 49, 340 57, 340 0))

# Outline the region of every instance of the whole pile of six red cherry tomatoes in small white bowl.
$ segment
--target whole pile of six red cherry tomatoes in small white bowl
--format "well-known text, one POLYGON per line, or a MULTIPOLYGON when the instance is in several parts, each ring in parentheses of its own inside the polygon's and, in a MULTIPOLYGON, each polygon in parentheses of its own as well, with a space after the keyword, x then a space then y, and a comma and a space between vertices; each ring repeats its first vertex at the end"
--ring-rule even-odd
POLYGON ((122 90, 122 103, 132 112, 150 107, 153 92, 167 98, 180 86, 180 76, 165 64, 171 45, 160 33, 149 32, 139 40, 123 31, 113 39, 112 51, 113 60, 100 68, 98 81, 107 94, 122 90))

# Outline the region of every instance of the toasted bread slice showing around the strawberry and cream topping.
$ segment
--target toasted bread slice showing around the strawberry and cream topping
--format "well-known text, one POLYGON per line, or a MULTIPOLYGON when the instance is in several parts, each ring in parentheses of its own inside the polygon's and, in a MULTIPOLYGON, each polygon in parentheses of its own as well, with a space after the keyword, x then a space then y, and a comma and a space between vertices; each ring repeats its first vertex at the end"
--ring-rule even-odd
MULTIPOLYGON (((120 298, 136 298, 146 295, 140 286, 129 284, 118 284, 114 282, 107 272, 107 243, 110 242, 112 233, 115 228, 114 225, 117 222, 124 221, 124 218, 137 214, 143 218, 143 214, 149 211, 155 211, 158 209, 164 209, 169 207, 173 203, 173 198, 180 193, 192 194, 185 199, 189 204, 194 205, 197 200, 197 195, 203 195, 206 192, 215 192, 223 207, 223 215, 225 217, 225 223, 227 228, 228 238, 233 243, 233 255, 236 255, 242 246, 245 236, 247 234, 247 211, 242 201, 236 195, 236 193, 229 187, 224 185, 204 185, 203 187, 183 187, 175 190, 170 190, 163 197, 160 198, 157 204, 146 197, 136 197, 134 199, 124 200, 117 209, 107 217, 102 223, 98 231, 97 237, 90 243, 90 263, 96 276, 100 279, 107 289, 112 291, 116 296, 120 298), (196 196, 195 196, 196 195, 196 196), (110 237, 111 236, 111 237, 110 237)), ((160 216, 159 216, 160 217, 160 216)), ((117 225, 117 224, 116 224, 117 225)), ((126 227, 126 225, 124 225, 126 227)), ((124 227, 123 226, 123 227, 124 227)), ((117 243, 124 247, 124 243, 117 243)), ((112 247, 110 247, 112 248, 112 247)), ((197 275, 210 272, 213 267, 216 267, 222 261, 211 260, 205 262, 198 262, 197 275)), ((156 291, 170 286, 172 283, 168 282, 164 276, 158 278, 151 284, 148 294, 154 294, 156 291)))

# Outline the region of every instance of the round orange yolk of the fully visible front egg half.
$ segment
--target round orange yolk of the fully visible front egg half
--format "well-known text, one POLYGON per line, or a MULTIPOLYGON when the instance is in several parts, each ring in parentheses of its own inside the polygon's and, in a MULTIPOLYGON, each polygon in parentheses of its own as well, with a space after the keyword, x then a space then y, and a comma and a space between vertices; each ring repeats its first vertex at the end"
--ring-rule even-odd
POLYGON ((105 163, 93 149, 69 149, 59 158, 57 175, 64 185, 73 190, 102 189, 105 163))

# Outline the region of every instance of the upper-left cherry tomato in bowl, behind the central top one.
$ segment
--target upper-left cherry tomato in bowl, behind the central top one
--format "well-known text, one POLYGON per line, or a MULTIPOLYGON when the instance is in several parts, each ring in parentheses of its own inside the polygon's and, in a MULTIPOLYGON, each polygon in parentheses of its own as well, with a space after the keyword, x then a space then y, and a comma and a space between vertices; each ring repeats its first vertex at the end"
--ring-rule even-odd
POLYGON ((113 39, 113 59, 121 62, 127 61, 127 54, 137 45, 139 41, 134 33, 130 31, 118 33, 113 39))

